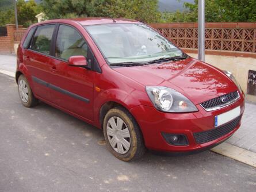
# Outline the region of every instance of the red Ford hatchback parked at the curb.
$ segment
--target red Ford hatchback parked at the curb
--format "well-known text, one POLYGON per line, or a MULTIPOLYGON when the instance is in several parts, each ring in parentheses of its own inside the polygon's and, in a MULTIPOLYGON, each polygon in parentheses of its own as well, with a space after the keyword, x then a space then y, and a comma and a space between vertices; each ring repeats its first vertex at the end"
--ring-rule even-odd
POLYGON ((239 128, 244 112, 244 93, 230 72, 133 20, 30 26, 18 47, 16 80, 24 106, 40 100, 103 129, 110 152, 124 161, 146 148, 211 148, 239 128))

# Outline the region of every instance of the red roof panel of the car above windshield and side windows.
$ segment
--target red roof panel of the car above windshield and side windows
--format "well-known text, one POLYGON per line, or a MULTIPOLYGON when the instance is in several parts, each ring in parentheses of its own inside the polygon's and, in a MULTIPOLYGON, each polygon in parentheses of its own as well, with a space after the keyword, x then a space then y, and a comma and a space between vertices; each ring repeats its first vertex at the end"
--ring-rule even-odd
POLYGON ((142 22, 136 21, 136 20, 129 20, 125 18, 104 18, 104 17, 86 17, 86 18, 68 18, 68 19, 59 19, 59 20, 47 20, 40 23, 37 23, 35 25, 40 24, 48 24, 51 22, 65 22, 65 21, 73 21, 77 22, 83 26, 85 25, 98 25, 98 24, 110 24, 110 23, 129 23, 129 24, 141 24, 142 22))

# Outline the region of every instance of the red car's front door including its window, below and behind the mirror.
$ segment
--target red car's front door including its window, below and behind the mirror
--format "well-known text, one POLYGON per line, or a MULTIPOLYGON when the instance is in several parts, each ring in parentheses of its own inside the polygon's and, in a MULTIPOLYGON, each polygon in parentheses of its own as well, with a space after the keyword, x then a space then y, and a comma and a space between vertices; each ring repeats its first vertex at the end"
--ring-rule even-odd
MULTIPOLYGON (((52 102, 87 120, 93 120, 94 71, 68 66, 70 56, 82 55, 90 60, 86 41, 77 29, 59 25, 55 56, 50 59, 52 102)), ((90 61, 89 61, 90 62, 90 61)))

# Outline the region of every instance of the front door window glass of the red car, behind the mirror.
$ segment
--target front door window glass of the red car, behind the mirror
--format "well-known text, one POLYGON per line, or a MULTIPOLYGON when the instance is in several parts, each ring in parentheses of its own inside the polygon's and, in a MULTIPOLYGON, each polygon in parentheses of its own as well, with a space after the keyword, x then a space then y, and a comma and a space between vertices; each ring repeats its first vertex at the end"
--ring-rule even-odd
POLYGON ((55 56, 68 60, 71 56, 87 57, 88 46, 83 37, 71 26, 60 25, 56 40, 55 56))

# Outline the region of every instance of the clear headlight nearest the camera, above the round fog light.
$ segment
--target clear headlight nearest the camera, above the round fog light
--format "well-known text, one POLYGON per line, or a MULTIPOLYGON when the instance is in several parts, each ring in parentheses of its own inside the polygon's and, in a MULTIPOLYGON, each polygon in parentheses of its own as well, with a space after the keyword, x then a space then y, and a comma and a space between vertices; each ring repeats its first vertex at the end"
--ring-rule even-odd
POLYGON ((169 87, 146 87, 148 97, 156 109, 162 112, 186 113, 198 109, 184 95, 169 87))

